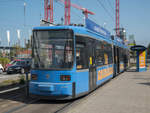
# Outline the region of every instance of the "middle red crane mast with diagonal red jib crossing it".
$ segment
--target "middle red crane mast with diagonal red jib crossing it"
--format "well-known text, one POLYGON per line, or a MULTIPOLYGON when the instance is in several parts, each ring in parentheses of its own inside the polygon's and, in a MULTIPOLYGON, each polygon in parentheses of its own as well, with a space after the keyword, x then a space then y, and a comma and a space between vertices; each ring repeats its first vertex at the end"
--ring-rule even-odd
POLYGON ((89 11, 86 8, 83 8, 81 6, 78 6, 76 4, 72 4, 70 2, 70 0, 56 0, 56 1, 60 1, 62 3, 65 4, 65 25, 69 25, 70 24, 70 7, 74 7, 76 9, 82 10, 83 14, 85 15, 86 18, 88 18, 88 14, 94 15, 93 12, 89 11))

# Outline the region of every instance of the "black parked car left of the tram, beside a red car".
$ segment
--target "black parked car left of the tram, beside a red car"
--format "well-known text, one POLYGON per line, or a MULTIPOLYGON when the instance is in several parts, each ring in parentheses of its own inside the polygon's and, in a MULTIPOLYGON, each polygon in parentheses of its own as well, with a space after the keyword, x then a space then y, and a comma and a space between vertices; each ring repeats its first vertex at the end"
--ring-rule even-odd
POLYGON ((6 69, 7 74, 10 73, 25 73, 25 70, 30 70, 31 67, 31 60, 18 60, 15 63, 13 63, 11 66, 8 66, 6 69))

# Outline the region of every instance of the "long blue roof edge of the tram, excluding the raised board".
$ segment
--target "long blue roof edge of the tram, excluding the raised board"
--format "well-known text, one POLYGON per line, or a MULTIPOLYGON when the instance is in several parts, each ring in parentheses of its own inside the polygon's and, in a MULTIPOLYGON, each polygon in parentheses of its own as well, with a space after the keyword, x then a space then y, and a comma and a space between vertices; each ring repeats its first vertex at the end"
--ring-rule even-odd
POLYGON ((123 44, 123 40, 117 36, 115 36, 114 40, 112 40, 110 34, 105 36, 81 26, 39 26, 33 28, 33 30, 52 30, 52 29, 71 29, 74 31, 75 35, 94 37, 95 39, 104 40, 111 44, 114 43, 115 46, 119 46, 126 49, 128 48, 125 44, 123 44))

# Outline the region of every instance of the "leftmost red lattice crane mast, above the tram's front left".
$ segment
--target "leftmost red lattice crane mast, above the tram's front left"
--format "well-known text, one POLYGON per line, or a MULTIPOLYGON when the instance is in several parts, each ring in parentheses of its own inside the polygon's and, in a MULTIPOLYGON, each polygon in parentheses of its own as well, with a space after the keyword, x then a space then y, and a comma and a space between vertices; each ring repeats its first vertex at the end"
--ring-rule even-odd
POLYGON ((44 19, 53 23, 53 0, 44 0, 44 19))

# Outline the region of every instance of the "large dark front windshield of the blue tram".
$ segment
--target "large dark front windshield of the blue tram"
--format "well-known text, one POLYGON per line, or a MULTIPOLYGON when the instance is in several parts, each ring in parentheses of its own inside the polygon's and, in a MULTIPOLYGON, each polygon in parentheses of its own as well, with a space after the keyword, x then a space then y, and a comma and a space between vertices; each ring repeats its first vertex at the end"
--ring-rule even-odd
POLYGON ((33 69, 71 69, 73 67, 72 31, 33 31, 32 58, 33 69))

